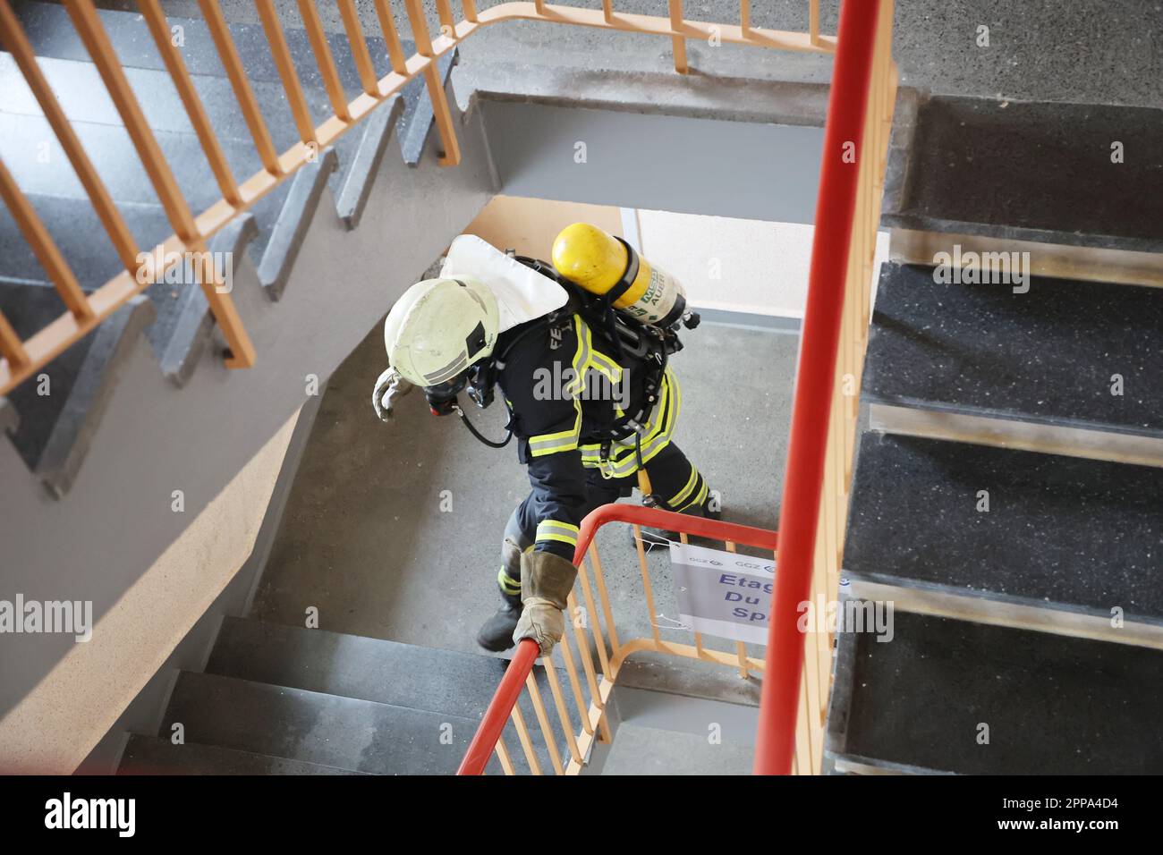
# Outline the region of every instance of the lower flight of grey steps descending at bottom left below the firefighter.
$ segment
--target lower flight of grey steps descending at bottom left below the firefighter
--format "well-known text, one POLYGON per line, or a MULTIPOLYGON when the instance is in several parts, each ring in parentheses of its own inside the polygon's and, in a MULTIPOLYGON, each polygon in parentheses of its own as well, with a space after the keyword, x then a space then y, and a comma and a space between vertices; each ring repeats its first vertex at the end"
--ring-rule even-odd
POLYGON ((228 618, 205 672, 179 675, 158 735, 133 735, 119 772, 450 775, 505 664, 228 618))

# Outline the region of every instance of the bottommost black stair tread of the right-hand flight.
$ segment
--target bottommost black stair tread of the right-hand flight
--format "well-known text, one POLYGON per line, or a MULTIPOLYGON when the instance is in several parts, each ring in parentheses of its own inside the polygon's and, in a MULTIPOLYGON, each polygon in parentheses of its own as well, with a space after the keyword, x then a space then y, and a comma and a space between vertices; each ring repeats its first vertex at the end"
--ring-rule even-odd
POLYGON ((893 630, 840 635, 834 754, 961 774, 1163 772, 1163 651, 904 612, 893 630))

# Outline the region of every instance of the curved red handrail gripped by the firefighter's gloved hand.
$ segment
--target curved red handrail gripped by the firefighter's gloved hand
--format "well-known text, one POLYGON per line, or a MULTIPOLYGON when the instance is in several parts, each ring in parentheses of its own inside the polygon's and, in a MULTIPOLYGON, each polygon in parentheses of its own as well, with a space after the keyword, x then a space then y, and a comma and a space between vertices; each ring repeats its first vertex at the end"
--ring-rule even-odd
MULTIPOLYGON (((765 528, 752 528, 751 526, 740 526, 734 522, 722 522, 720 520, 708 520, 687 514, 677 514, 658 508, 640 507, 636 505, 602 505, 591 512, 583 521, 578 532, 578 546, 573 553, 573 563, 580 564, 590 550, 598 529, 609 522, 629 522, 636 526, 654 526, 670 532, 694 535, 697 537, 708 537, 712 540, 729 541, 732 543, 743 543, 745 546, 775 551, 778 546, 778 535, 765 528)), ((563 639, 562 643, 565 643, 563 639)), ((526 679, 533 670, 533 665, 538 656, 537 643, 529 639, 518 644, 516 654, 513 656, 509 667, 501 678, 497 693, 488 704, 488 710, 477 728, 469 750, 461 761, 457 775, 481 775, 488 760, 492 756, 497 741, 501 738, 505 722, 508 720, 513 706, 516 704, 521 690, 526 685, 526 679)))

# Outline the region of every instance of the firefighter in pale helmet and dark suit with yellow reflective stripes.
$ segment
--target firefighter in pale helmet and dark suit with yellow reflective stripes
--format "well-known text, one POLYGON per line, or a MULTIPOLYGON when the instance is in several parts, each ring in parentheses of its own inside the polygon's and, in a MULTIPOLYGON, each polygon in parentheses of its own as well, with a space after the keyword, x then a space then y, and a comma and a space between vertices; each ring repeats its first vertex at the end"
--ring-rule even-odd
MULTIPOLYGON (((622 270, 633 275, 621 277, 632 280, 622 282, 622 292, 644 264, 633 261, 634 270, 622 270)), ((647 504, 718 516, 702 475, 672 440, 682 408, 666 359, 673 332, 614 319, 608 293, 599 300, 607 311, 595 312, 575 285, 544 262, 463 235, 440 278, 408 288, 384 326, 391 368, 372 394, 381 419, 415 384, 434 413, 456 412, 478 439, 502 446, 472 427, 457 394, 468 390, 486 406, 498 387, 509 411, 531 490, 505 528, 497 576, 502 603, 477 634, 486 650, 529 637, 544 656, 561 641, 578 526, 595 507, 649 485, 647 504), (640 470, 648 478, 640 479, 640 470)))

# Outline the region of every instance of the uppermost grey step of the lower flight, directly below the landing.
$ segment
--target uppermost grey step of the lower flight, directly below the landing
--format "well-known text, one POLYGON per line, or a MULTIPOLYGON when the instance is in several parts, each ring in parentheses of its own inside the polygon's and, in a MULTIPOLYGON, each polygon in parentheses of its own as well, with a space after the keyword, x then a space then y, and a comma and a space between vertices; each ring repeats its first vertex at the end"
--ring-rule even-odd
MULTIPOLYGON (((476 729, 507 667, 508 660, 493 656, 227 618, 206 671, 449 714, 472 721, 476 729)), ((540 667, 536 671, 542 697, 551 705, 544 671, 540 667)), ((564 675, 561 683, 568 692, 564 675)), ((527 693, 521 697, 521 708, 534 732, 537 762, 548 772, 551 761, 527 693)), ((550 711, 549 715, 556 733, 559 731, 556 713, 550 711)), ((527 762, 512 722, 505 736, 514 764, 526 771, 527 762)), ((564 740, 561 733, 557 738, 564 740)))

